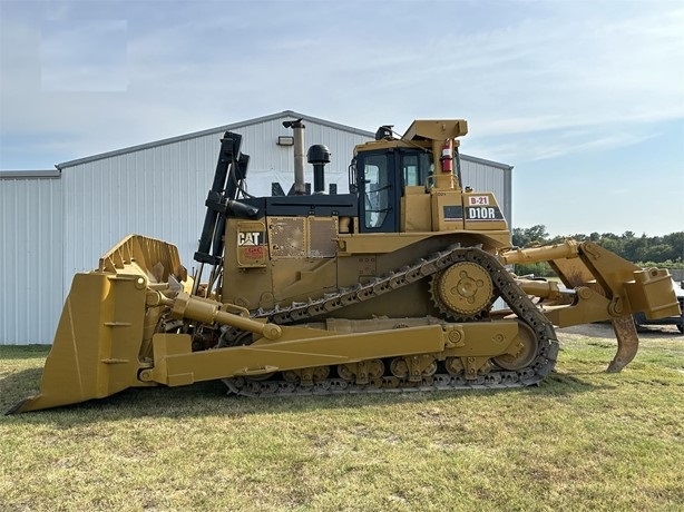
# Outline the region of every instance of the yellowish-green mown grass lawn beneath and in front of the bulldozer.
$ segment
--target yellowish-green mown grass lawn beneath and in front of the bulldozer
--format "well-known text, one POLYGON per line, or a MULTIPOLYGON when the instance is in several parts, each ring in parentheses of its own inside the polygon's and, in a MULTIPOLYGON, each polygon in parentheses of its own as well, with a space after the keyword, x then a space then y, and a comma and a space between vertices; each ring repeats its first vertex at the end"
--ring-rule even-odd
MULTIPOLYGON (((0 510, 682 510, 684 338, 560 335, 539 387, 255 400, 130 390, 0 417, 0 510)), ((45 347, 0 346, 0 407, 45 347)))

